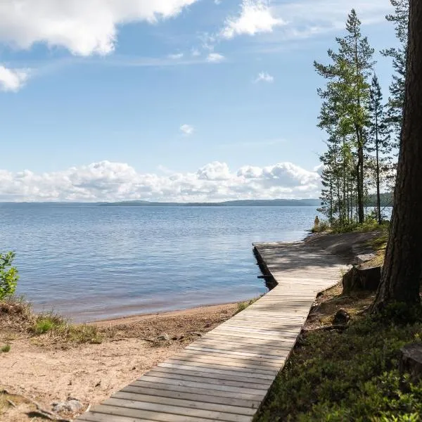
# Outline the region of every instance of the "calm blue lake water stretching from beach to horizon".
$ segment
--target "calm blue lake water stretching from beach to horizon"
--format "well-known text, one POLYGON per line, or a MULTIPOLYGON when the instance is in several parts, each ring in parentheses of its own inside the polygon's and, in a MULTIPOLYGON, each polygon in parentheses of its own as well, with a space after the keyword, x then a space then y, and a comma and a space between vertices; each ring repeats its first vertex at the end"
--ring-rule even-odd
POLYGON ((315 207, 0 204, 18 294, 74 321, 235 302, 267 291, 252 242, 303 238, 315 207))

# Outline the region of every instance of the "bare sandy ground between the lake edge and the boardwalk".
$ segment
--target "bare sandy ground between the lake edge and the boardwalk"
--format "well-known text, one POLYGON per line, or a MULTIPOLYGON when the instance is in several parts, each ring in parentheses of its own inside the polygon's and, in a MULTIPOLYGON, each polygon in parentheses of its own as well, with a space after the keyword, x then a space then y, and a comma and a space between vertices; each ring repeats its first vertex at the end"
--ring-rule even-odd
POLYGON ((69 345, 49 334, 6 335, 0 327, 0 345, 5 340, 11 345, 10 351, 0 353, 0 392, 4 391, 0 393, 0 420, 45 422, 45 417, 39 417, 37 404, 51 411, 53 402, 75 397, 84 404, 83 409, 61 414, 72 418, 226 321, 235 311, 236 304, 229 304, 98 321, 92 324, 109 334, 101 344, 69 345), (170 339, 159 340, 163 333, 170 339))

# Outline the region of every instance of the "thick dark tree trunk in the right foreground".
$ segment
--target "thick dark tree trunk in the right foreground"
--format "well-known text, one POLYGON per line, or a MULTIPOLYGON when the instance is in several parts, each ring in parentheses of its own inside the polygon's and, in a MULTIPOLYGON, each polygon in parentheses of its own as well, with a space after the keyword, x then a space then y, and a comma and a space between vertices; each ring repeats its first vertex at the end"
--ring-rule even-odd
POLYGON ((394 210, 373 311, 388 302, 421 305, 422 269, 422 1, 410 0, 406 98, 394 210))

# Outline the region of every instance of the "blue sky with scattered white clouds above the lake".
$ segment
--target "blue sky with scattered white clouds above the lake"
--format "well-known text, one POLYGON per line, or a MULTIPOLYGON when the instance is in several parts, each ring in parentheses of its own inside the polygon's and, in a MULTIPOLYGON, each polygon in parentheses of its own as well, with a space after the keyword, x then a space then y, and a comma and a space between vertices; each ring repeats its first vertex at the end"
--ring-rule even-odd
POLYGON ((388 0, 4 0, 0 200, 317 198, 314 60, 388 0))

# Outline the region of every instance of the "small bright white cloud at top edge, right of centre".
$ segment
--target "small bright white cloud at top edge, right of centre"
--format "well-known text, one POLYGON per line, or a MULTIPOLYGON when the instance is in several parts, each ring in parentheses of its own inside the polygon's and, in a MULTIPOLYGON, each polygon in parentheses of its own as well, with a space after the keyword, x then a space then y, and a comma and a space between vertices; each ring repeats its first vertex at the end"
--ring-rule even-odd
POLYGON ((220 35, 226 39, 242 34, 255 35, 259 32, 272 32, 274 27, 283 24, 283 20, 274 18, 268 1, 243 0, 241 13, 226 19, 220 35))

